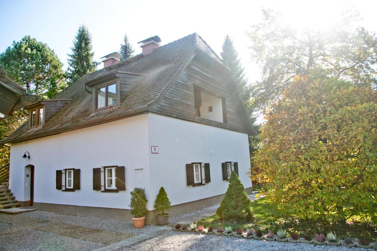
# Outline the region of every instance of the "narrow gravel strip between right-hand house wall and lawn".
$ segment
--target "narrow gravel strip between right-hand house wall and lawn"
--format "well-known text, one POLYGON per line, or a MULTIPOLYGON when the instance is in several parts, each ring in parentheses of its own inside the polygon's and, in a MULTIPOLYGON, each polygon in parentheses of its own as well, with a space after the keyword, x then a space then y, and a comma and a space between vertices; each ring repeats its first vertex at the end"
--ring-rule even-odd
MULTIPOLYGON (((255 195, 256 195, 256 193, 249 195, 249 198, 250 198, 251 201, 254 201, 254 200, 257 200, 259 198, 264 197, 264 196, 261 196, 261 197, 256 198, 255 195)), ((189 224, 191 222, 195 222, 197 220, 201 220, 201 219, 210 217, 213 214, 216 214, 216 210, 217 210, 218 207, 220 207, 220 204, 213 205, 211 207, 206 207, 206 208, 203 208, 203 209, 198 210, 198 211, 193 211, 192 213, 181 214, 181 215, 176 216, 176 217, 170 217, 169 218, 170 225, 173 226, 173 225, 175 225, 175 223, 189 224)))

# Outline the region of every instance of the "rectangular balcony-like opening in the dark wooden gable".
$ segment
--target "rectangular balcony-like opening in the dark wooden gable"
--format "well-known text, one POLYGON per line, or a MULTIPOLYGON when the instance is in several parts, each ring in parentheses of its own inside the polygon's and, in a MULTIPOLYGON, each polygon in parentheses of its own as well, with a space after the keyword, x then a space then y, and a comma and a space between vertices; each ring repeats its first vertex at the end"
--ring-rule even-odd
POLYGON ((224 97, 194 86, 195 116, 227 123, 227 107, 224 97))

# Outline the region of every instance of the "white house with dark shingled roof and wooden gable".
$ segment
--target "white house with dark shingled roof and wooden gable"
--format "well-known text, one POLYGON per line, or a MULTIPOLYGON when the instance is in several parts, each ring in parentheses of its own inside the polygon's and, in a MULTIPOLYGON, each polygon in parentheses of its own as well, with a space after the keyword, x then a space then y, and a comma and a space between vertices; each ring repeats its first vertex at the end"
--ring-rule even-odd
POLYGON ((161 186, 171 216, 218 204, 231 170, 251 193, 253 132, 231 71, 197 34, 160 42, 124 61, 106 55, 103 69, 26 108, 29 121, 2 141, 21 205, 130 220, 141 187, 150 223, 161 186))

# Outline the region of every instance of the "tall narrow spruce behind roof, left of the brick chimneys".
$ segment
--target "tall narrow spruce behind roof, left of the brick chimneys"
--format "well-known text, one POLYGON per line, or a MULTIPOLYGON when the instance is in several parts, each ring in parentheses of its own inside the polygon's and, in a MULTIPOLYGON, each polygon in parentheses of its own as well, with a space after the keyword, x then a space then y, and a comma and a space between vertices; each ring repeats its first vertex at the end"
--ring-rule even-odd
POLYGON ((92 35, 86 26, 80 25, 71 47, 72 54, 68 54, 68 83, 71 84, 83 75, 93 72, 98 63, 93 60, 92 35))

